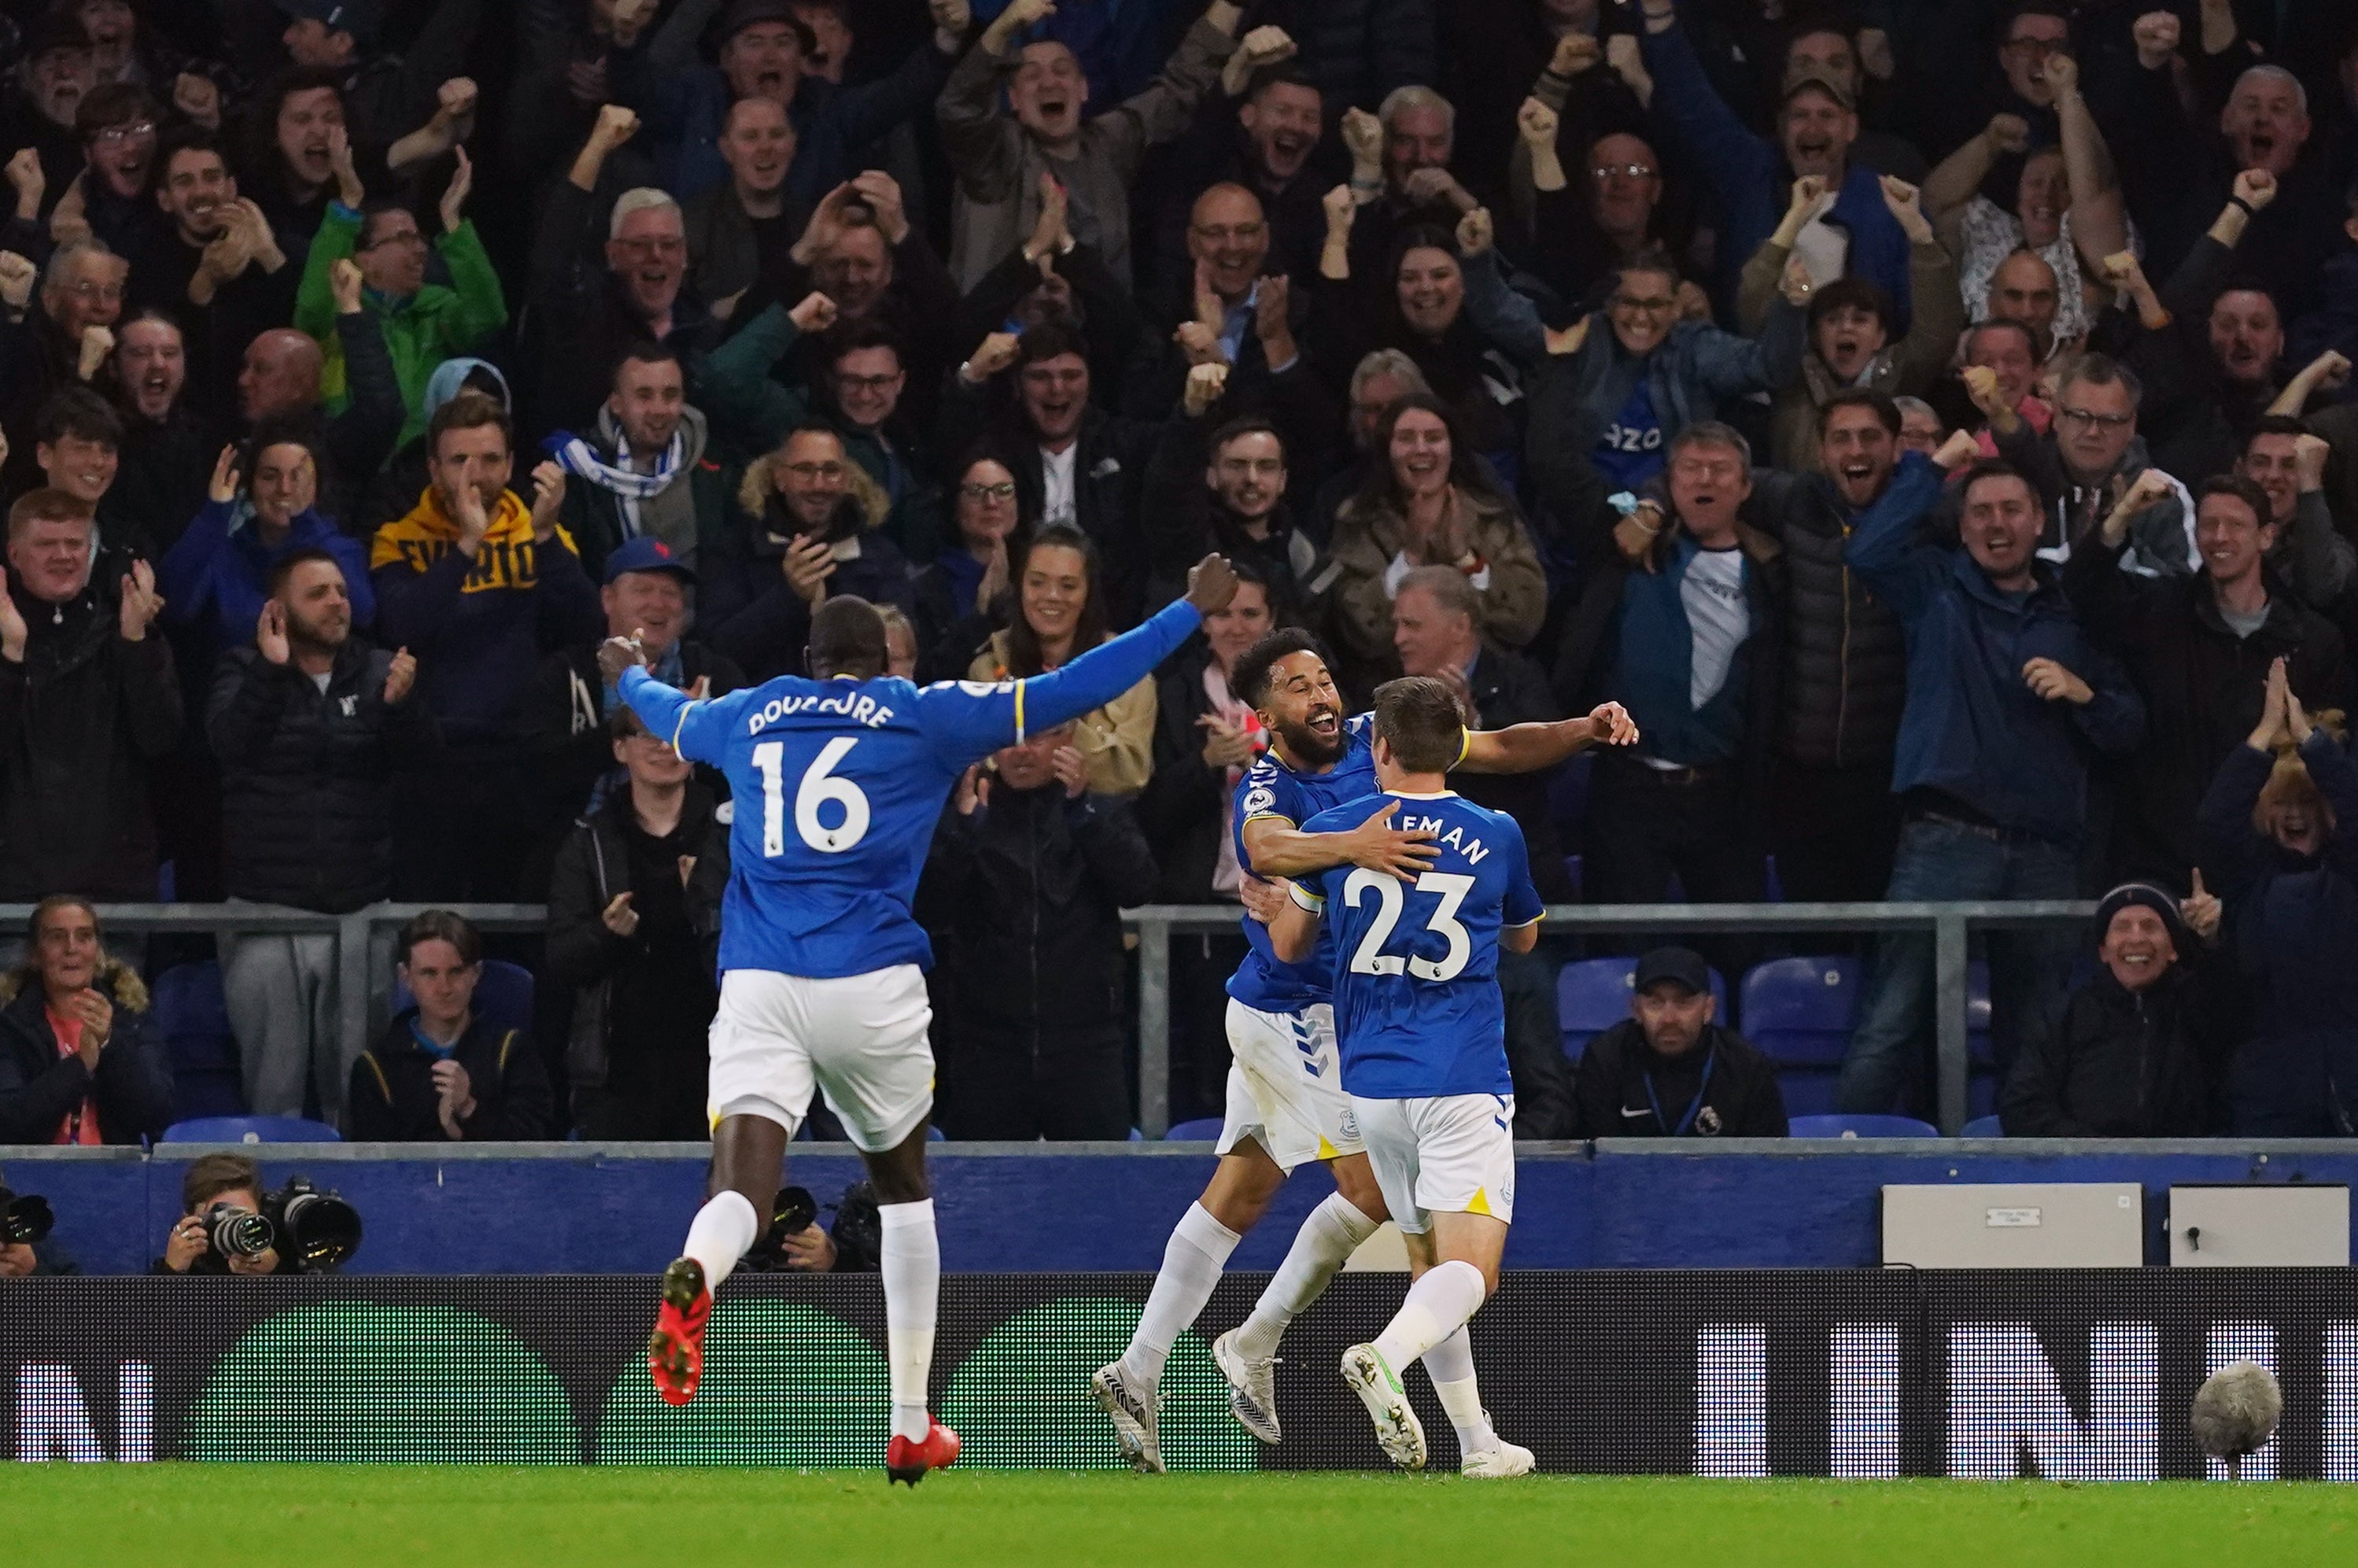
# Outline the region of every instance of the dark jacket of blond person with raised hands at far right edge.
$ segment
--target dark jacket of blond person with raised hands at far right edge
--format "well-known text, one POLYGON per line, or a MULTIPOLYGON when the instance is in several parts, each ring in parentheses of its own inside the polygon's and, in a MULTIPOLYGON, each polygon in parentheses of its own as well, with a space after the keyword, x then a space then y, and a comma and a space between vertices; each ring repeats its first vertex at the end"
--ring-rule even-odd
POLYGON ((2250 988, 2252 1037, 2228 1068, 2228 1132, 2311 1139, 2358 1132, 2358 764, 2323 729, 2301 762, 2344 823, 2308 858, 2252 825, 2273 752, 2238 745, 2202 799, 2202 870, 2250 988))

